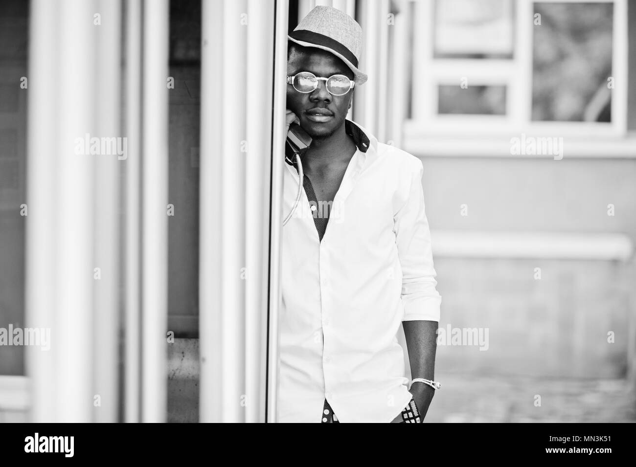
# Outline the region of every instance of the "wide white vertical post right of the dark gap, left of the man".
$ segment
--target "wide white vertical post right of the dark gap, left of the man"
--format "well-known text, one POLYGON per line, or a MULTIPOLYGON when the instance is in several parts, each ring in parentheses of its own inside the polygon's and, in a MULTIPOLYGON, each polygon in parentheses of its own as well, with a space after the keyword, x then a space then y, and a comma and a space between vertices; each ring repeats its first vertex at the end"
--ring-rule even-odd
MULTIPOLYGON (((246 267, 245 258, 245 147, 261 149, 261 157, 266 154, 258 140, 247 140, 248 78, 251 86, 267 91, 261 81, 263 70, 247 74, 247 29, 260 20, 247 15, 247 3, 204 3, 203 17, 200 419, 242 422, 245 403, 249 403, 245 399, 245 278, 251 274, 258 278, 258 271, 246 267)), ((256 47, 265 53, 261 44, 256 47)), ((266 114, 251 104, 252 118, 260 118, 263 125, 266 114)))

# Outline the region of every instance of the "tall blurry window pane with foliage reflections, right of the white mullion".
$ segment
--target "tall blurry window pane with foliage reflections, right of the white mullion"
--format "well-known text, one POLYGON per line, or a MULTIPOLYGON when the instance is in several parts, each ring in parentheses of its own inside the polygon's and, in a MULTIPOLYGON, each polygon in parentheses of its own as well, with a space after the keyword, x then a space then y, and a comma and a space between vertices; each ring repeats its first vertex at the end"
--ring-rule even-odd
POLYGON ((534 12, 532 119, 610 121, 613 5, 535 3, 534 12))

